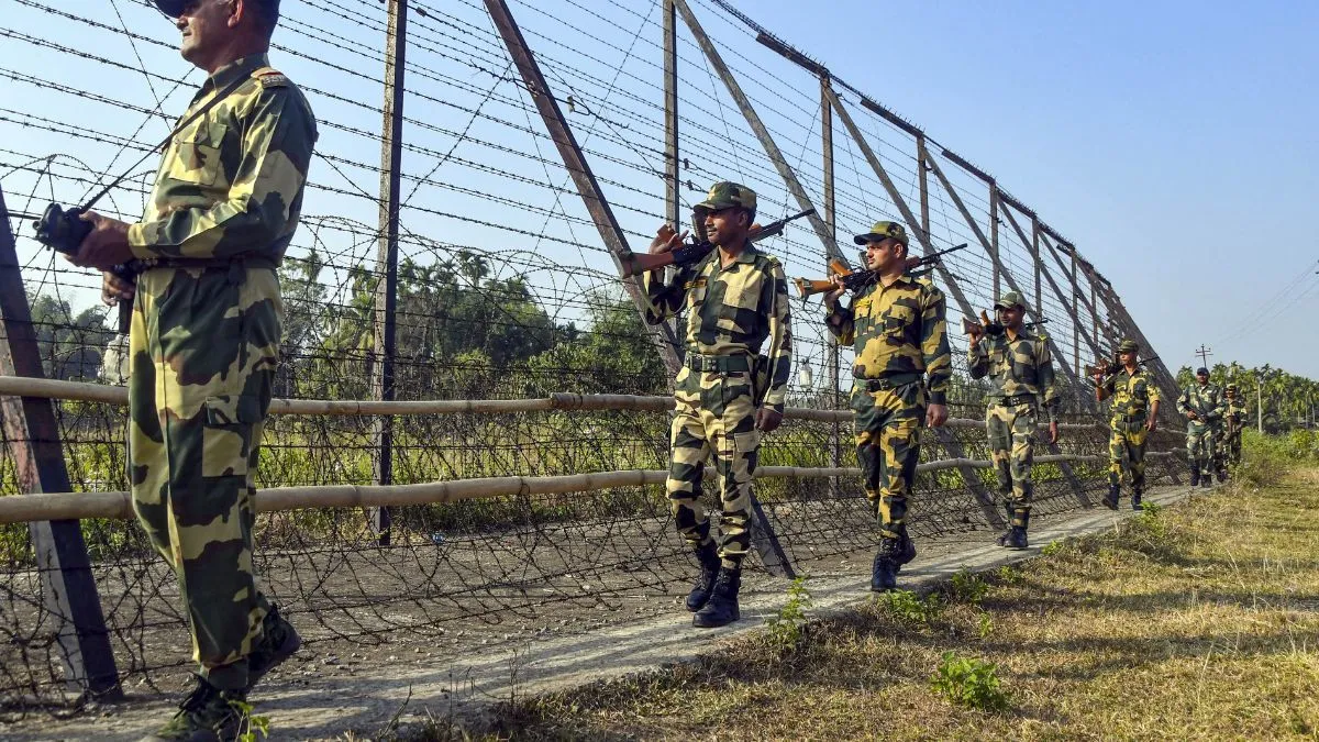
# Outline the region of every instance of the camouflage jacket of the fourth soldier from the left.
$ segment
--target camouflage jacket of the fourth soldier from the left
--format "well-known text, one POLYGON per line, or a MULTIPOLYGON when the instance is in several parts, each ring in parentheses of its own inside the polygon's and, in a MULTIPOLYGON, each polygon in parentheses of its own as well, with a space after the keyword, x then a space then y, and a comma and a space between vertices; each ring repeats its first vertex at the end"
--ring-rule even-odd
POLYGON ((967 350, 967 367, 972 379, 989 375, 991 400, 1030 395, 1042 399, 1050 422, 1058 420, 1058 387, 1045 335, 1022 331, 1014 341, 1008 333, 983 335, 967 350))

